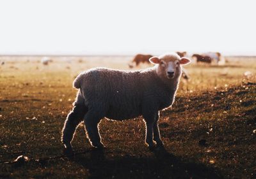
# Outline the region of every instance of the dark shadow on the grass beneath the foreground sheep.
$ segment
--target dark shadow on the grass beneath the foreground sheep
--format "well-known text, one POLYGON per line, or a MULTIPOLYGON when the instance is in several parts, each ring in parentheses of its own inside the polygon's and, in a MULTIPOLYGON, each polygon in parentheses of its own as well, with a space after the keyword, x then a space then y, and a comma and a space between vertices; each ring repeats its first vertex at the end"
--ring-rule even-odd
POLYGON ((204 164, 183 162, 164 149, 153 152, 151 157, 125 155, 108 159, 103 150, 95 150, 74 161, 88 169, 88 178, 222 178, 220 172, 204 164))

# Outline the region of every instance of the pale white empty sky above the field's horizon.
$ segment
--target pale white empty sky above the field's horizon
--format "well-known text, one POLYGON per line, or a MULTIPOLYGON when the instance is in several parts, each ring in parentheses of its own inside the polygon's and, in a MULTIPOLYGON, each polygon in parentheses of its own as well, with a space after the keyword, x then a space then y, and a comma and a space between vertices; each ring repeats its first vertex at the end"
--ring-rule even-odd
POLYGON ((0 1, 0 55, 256 55, 256 3, 0 1))

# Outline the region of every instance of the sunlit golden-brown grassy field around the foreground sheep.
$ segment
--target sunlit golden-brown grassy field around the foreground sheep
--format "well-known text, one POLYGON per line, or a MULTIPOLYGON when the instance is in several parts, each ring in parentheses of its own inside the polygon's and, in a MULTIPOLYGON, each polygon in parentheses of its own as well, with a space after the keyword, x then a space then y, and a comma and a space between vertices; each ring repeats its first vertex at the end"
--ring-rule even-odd
POLYGON ((48 66, 40 59, 0 57, 0 178, 256 178, 256 59, 186 66, 191 79, 161 112, 164 150, 145 146, 141 117, 104 119, 107 148, 93 150, 81 125, 74 157, 63 157, 60 141, 72 81, 96 66, 129 69, 131 57, 53 57, 48 66), (19 155, 29 161, 12 163, 19 155))

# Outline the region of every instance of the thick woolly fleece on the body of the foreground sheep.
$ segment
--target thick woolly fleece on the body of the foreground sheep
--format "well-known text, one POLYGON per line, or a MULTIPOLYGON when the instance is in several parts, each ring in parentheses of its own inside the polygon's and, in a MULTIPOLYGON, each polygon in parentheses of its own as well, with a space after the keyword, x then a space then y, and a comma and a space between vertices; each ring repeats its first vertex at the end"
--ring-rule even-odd
MULTIPOLYGON (((95 68, 74 80, 88 111, 100 118, 125 120, 151 115, 172 105, 179 76, 172 80, 157 75, 156 68, 118 71, 95 68)), ((78 102, 78 101, 77 101, 78 102)))

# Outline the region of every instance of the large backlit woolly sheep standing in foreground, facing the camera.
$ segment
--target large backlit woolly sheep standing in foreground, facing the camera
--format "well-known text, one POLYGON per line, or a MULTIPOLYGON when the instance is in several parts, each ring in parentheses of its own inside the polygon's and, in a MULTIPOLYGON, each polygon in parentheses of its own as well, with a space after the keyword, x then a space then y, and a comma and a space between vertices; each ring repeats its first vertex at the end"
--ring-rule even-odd
POLYGON ((163 147, 159 111, 172 106, 182 66, 191 61, 176 53, 154 56, 149 61, 155 66, 138 71, 93 68, 76 77, 73 83, 78 89, 76 101, 62 129, 64 152, 72 153, 71 141, 82 121, 92 147, 104 148, 98 127, 102 118, 127 120, 140 115, 146 126, 147 146, 163 147))

